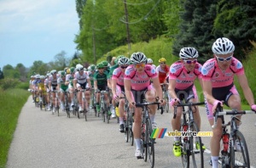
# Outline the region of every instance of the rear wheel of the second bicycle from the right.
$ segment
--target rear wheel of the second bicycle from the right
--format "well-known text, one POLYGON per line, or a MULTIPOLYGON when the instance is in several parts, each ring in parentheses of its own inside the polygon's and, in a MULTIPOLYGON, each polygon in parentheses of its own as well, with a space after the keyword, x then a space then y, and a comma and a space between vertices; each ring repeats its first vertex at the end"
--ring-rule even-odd
MULTIPOLYGON (((188 125, 182 125, 180 127, 180 132, 187 132, 188 125)), ((186 136, 180 137, 180 143, 181 143, 181 159, 183 163, 184 168, 189 168, 189 139, 186 136)))

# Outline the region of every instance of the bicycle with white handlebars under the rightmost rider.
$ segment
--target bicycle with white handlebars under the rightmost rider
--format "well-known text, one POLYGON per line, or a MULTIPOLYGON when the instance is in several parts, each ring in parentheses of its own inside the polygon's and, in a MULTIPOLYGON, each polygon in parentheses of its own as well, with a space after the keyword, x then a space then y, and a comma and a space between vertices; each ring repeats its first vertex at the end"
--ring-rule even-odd
MULTIPOLYGON (((231 111, 224 111, 220 104, 214 114, 214 124, 212 128, 217 126, 218 117, 222 120, 222 130, 223 134, 220 139, 220 157, 218 158, 218 163, 220 167, 250 167, 250 158, 247 149, 247 143, 245 137, 242 133, 237 130, 237 121, 241 125, 241 120, 236 117, 236 115, 246 115, 246 114, 255 114, 256 112, 252 110, 237 110, 231 109, 231 111), (224 123, 223 115, 231 115, 230 121, 224 123), (230 126, 230 133, 228 132, 227 126, 230 126), (235 145, 235 144, 239 145, 235 145), (240 146, 236 148, 235 146, 240 146)), ((210 160, 210 165, 212 165, 212 160, 210 160)))

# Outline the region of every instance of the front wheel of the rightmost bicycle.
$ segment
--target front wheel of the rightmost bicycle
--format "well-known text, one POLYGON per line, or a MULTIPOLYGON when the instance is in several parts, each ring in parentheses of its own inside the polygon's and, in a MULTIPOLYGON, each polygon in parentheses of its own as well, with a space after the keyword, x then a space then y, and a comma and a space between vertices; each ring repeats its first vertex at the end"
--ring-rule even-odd
POLYGON ((236 141, 238 141, 240 148, 230 148, 230 164, 231 167, 250 167, 250 159, 247 149, 247 143, 242 133, 236 131, 234 136, 234 144, 236 145, 236 141))

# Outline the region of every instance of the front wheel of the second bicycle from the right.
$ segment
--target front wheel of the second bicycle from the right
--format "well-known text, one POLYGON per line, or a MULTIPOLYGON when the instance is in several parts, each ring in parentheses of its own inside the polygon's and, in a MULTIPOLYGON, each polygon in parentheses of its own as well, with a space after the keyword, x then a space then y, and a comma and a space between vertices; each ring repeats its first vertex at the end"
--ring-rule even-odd
MULTIPOLYGON (((196 125, 195 122, 192 122, 190 124, 190 131, 199 132, 198 126, 196 125)), ((194 167, 204 167, 204 151, 202 149, 201 137, 189 137, 189 143, 190 154, 192 156, 194 167)))

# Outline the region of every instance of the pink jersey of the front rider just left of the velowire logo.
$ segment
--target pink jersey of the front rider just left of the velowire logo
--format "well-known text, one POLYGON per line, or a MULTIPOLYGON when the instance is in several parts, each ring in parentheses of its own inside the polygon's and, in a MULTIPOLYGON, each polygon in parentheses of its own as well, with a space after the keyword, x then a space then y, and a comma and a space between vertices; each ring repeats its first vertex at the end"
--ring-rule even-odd
POLYGON ((150 85, 150 80, 158 77, 153 66, 146 64, 144 71, 138 73, 133 64, 125 70, 125 80, 131 80, 131 89, 141 91, 150 85))

